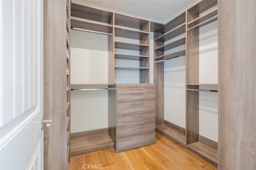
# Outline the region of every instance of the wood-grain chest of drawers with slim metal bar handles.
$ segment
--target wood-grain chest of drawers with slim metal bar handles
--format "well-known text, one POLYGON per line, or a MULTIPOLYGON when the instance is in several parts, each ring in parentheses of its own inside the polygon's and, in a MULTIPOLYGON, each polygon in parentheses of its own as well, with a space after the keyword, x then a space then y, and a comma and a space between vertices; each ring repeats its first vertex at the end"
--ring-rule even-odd
POLYGON ((117 84, 116 152, 155 142, 155 84, 117 84))

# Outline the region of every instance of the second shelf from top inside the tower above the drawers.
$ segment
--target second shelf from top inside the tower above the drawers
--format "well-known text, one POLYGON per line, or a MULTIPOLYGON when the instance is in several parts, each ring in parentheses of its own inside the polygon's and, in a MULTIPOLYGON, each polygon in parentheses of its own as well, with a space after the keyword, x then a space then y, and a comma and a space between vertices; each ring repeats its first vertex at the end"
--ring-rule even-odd
POLYGON ((122 42, 122 41, 115 41, 116 49, 140 51, 140 50, 143 50, 148 47, 149 47, 149 45, 144 45, 144 44, 135 44, 135 43, 126 43, 126 42, 122 42))

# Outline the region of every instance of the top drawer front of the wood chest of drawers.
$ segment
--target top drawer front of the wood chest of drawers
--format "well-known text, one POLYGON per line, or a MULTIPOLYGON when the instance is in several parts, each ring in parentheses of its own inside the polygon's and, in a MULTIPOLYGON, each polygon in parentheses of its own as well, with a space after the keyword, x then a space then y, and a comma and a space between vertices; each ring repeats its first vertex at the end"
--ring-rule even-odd
POLYGON ((117 84, 117 94, 154 92, 155 84, 117 84))

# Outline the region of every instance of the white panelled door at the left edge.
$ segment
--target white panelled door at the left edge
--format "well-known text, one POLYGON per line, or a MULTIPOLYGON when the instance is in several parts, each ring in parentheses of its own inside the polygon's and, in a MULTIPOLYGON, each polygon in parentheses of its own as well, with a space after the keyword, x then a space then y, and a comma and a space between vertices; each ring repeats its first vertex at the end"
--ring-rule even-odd
POLYGON ((0 170, 43 169, 42 29, 42 0, 0 0, 0 170))

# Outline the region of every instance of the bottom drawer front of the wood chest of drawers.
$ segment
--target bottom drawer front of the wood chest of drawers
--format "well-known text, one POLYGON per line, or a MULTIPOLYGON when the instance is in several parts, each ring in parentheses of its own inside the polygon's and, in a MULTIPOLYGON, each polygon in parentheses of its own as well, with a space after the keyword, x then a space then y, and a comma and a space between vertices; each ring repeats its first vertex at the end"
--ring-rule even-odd
POLYGON ((155 127, 124 132, 117 137, 116 152, 143 147, 154 144, 155 142, 155 127))

